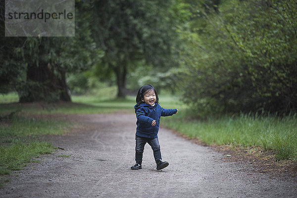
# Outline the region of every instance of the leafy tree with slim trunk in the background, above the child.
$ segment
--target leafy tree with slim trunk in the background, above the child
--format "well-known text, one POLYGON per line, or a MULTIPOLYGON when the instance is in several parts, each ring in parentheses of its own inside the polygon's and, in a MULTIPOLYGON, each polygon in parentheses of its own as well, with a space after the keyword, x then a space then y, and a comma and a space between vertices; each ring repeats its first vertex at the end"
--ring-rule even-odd
POLYGON ((90 7, 93 38, 104 51, 94 71, 115 75, 118 97, 126 95, 127 75, 137 67, 177 66, 177 5, 176 0, 96 0, 90 7))

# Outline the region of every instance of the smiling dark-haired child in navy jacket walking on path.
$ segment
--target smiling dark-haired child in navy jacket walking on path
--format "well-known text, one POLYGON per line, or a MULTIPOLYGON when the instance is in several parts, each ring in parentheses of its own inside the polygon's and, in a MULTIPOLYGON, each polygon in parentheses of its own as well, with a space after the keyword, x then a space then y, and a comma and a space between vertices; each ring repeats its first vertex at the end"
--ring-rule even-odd
POLYGON ((148 143, 153 150, 153 156, 157 165, 157 170, 161 170, 169 165, 167 161, 162 161, 158 131, 161 116, 176 114, 178 109, 164 109, 158 103, 158 94, 152 85, 145 85, 138 91, 136 97, 135 113, 137 117, 135 161, 132 170, 142 168, 142 158, 145 145, 148 143))

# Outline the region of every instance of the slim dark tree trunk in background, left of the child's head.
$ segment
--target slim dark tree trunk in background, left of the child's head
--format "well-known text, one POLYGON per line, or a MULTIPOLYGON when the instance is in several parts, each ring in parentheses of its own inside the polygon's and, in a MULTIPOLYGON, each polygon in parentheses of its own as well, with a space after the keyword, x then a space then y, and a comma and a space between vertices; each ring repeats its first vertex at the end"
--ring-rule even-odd
POLYGON ((118 65, 114 68, 116 74, 116 83, 118 87, 118 98, 126 97, 126 75, 127 75, 127 66, 126 64, 118 65))

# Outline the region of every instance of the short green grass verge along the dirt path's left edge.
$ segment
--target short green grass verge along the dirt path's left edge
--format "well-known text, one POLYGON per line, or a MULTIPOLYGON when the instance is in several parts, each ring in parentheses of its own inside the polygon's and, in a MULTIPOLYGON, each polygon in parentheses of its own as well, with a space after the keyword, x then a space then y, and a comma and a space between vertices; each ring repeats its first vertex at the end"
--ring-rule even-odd
POLYGON ((45 134, 63 134, 69 124, 63 121, 1 116, 0 119, 0 187, 8 181, 3 179, 12 170, 20 170, 41 154, 51 153, 50 143, 38 140, 45 134))

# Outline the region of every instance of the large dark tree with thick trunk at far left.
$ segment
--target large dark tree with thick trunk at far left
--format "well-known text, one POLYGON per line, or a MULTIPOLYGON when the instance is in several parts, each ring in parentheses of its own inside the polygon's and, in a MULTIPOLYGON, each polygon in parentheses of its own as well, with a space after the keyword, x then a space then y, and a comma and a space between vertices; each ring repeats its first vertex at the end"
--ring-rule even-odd
MULTIPOLYGON (((66 74, 90 68, 102 54, 88 14, 77 7, 76 15, 75 37, 1 37, 0 93, 16 91, 20 102, 71 100, 66 74)), ((0 29, 4 35, 4 21, 0 29)))

